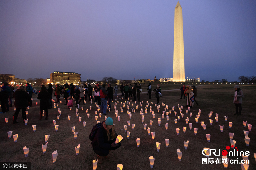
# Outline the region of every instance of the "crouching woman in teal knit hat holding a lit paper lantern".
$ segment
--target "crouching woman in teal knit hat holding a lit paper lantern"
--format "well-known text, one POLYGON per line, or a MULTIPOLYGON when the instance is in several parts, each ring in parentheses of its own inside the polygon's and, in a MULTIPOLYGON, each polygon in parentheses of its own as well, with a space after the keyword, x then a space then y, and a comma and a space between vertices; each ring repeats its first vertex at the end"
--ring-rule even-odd
POLYGON ((115 144, 117 133, 114 130, 114 122, 111 117, 101 123, 94 140, 92 140, 93 151, 98 154, 98 163, 102 164, 102 157, 110 158, 109 151, 115 150, 121 146, 121 143, 115 144))

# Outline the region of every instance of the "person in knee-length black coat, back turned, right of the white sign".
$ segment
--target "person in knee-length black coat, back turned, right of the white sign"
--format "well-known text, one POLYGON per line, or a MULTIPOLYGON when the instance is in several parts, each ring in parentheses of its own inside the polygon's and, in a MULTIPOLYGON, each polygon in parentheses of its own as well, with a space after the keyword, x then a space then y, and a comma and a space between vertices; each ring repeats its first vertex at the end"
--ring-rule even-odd
POLYGON ((41 87, 40 92, 38 93, 37 99, 40 100, 40 118, 42 120, 43 110, 45 112, 45 120, 48 120, 48 109, 50 109, 49 99, 51 98, 50 93, 46 90, 46 87, 41 87))

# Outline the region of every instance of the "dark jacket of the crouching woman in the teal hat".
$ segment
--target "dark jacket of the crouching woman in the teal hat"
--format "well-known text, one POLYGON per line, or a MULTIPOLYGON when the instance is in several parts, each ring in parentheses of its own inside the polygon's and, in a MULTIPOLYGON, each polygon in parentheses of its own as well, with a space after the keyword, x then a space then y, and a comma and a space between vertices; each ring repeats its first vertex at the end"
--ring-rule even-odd
MULTIPOLYGON (((112 132, 112 130, 109 130, 110 134, 112 132)), ((105 121, 103 121, 101 123, 101 127, 98 129, 94 140, 92 140, 91 144, 92 144, 92 148, 93 150, 97 150, 97 149, 110 149, 111 144, 117 139, 117 133, 115 132, 115 138, 114 139, 110 139, 108 141, 108 135, 107 135, 107 126, 105 121)))

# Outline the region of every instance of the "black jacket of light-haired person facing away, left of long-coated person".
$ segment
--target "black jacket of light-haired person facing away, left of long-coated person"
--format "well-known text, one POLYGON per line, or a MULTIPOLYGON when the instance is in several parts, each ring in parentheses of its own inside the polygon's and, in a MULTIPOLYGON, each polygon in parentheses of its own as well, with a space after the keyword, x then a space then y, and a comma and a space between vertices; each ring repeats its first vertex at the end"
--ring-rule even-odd
POLYGON ((14 97, 14 106, 16 108, 26 108, 28 107, 28 99, 30 99, 30 95, 27 94, 26 91, 22 91, 21 89, 17 89, 13 93, 14 97))

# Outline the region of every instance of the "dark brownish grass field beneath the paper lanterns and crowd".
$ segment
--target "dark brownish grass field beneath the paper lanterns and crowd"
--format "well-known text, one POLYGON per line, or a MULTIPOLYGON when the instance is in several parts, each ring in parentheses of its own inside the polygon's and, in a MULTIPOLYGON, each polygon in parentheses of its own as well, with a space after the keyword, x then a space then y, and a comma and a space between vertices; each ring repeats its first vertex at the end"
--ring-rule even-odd
MULTIPOLYGON (((199 85, 199 84, 197 84, 199 85)), ((155 88, 155 84, 152 85, 152 89, 155 88)), ((180 84, 161 84, 161 90, 171 90, 178 89, 174 91, 163 91, 162 97, 160 98, 160 112, 157 112, 155 107, 156 97, 152 92, 152 100, 148 100, 146 93, 141 94, 141 100, 143 100, 142 107, 138 107, 135 113, 132 114, 131 119, 127 114, 127 103, 123 113, 121 113, 120 106, 121 103, 117 104, 117 110, 119 110, 118 116, 121 116, 120 121, 115 117, 114 108, 112 104, 112 111, 107 115, 112 117, 115 124, 115 130, 117 134, 122 135, 124 139, 121 141, 121 147, 117 150, 110 152, 110 159, 103 158, 103 164, 98 164, 97 169, 116 169, 117 164, 123 164, 123 169, 150 169, 149 156, 154 156, 154 168, 153 169, 224 169, 223 164, 202 164, 202 158, 206 156, 202 155, 202 150, 204 147, 218 149, 222 152, 226 146, 230 146, 229 132, 234 133, 233 140, 236 141, 236 147, 240 151, 249 151, 249 169, 256 168, 256 162, 254 159, 254 153, 256 152, 256 112, 255 112, 255 101, 256 101, 256 91, 254 90, 256 86, 254 84, 250 85, 240 85, 243 90, 245 97, 243 97, 242 104, 242 115, 236 116, 235 106, 232 103, 234 95, 234 84, 214 84, 214 85, 203 85, 197 87, 197 102, 198 106, 194 105, 189 112, 192 112, 192 117, 189 113, 186 114, 185 107, 186 103, 184 99, 180 99, 181 91, 180 84), (152 114, 149 112, 145 114, 145 107, 147 101, 149 102, 149 107, 152 106, 152 110, 155 112, 156 116, 153 119, 152 114), (153 102, 153 105, 151 104, 153 102), (184 117, 180 118, 177 124, 174 124, 174 119, 177 116, 174 112, 169 114, 170 118, 167 122, 166 114, 164 119, 161 119, 161 126, 158 126, 158 117, 161 117, 165 105, 168 105, 168 110, 171 110, 172 106, 175 106, 174 111, 179 114, 179 108, 177 105, 183 106, 182 113, 184 117), (155 132, 155 139, 152 140, 151 135, 148 135, 147 130, 144 130, 143 124, 141 122, 141 115, 139 113, 140 109, 143 108, 143 113, 145 115, 144 123, 147 124, 147 128, 150 127, 150 132, 155 132), (199 117, 198 123, 195 122, 195 117, 198 110, 201 109, 201 116, 199 117), (212 125, 210 125, 208 113, 213 112, 211 119, 213 119, 212 125), (215 121, 215 114, 219 114, 218 123, 215 121), (224 116, 228 116, 228 121, 225 122, 224 116), (189 129, 189 125, 186 125, 185 119, 189 117, 189 122, 192 123, 192 130, 189 129), (128 126, 127 131, 131 132, 130 138, 126 138, 126 132, 124 132, 124 125, 127 125, 127 120, 130 120, 130 124, 135 123, 135 129, 128 126), (149 121, 153 120, 153 125, 150 126, 149 121), (249 146, 245 144, 245 135, 243 130, 248 131, 248 127, 243 126, 242 121, 246 121, 252 125, 252 130, 249 132, 248 137, 251 138, 249 146), (207 125, 204 131, 201 127, 200 122, 204 121, 207 125), (229 122, 233 122, 232 128, 229 128, 229 122), (165 129, 165 125, 168 123, 168 130, 165 129), (219 125, 224 125, 224 130, 221 133, 219 125), (187 127, 185 133, 182 129, 187 127), (176 134, 176 128, 180 129, 179 135, 176 134), (194 135, 193 128, 198 128, 197 134, 194 135), (206 134, 211 134, 211 141, 207 142, 206 134), (136 139, 140 138, 140 146, 137 147, 136 139), (169 146, 165 147, 165 139, 170 139, 169 146), (184 149, 184 140, 189 140, 189 145, 187 150, 184 149), (156 142, 161 143, 160 151, 156 150, 156 142), (178 160, 177 149, 180 149, 182 153, 182 160, 178 160)), ((147 85, 142 85, 143 92, 146 91, 147 85)), ((120 91, 119 91, 120 93, 120 91)), ((33 98, 35 98, 34 96, 33 98)), ((121 97, 121 95, 118 96, 121 97)), ((55 98, 53 97, 55 100, 55 98)), ((114 97, 114 100, 116 97, 114 97)), ((63 100, 63 99, 62 99, 63 100)), ((94 100, 93 100, 94 101, 94 100)), ((125 99, 121 99, 125 101, 125 99)), ((53 125, 53 119, 57 119, 58 114, 56 109, 49 109, 48 120, 38 120, 39 119, 39 104, 36 105, 36 100, 33 100, 33 105, 28 110, 27 118, 29 122, 27 125, 22 123, 21 112, 18 116, 17 121, 19 123, 12 124, 12 117, 14 114, 13 108, 10 108, 10 112, 0 115, 0 134, 1 134, 1 149, 0 149, 0 161, 1 162, 31 162, 31 169, 92 169, 92 160, 95 159, 96 154, 92 150, 90 140, 88 136, 91 132, 91 128, 96 124, 95 121, 95 110, 97 110, 95 103, 92 104, 86 101, 85 105, 80 105, 78 109, 79 116, 82 117, 82 122, 79 122, 76 117, 75 107, 70 111, 66 106, 62 104, 59 105, 62 115, 60 115, 60 120, 56 121, 56 125, 59 125, 59 129, 55 132, 55 127, 53 125), (81 106, 84 107, 83 111, 81 106), (92 109, 90 110, 90 106, 92 109), (86 109, 88 108, 88 113, 90 113, 90 118, 87 117, 86 109), (68 121, 67 115, 71 115, 71 120, 68 121), (4 118, 9 117, 9 123, 5 123, 4 118), (86 127, 83 127, 83 121, 86 121, 86 127), (32 125, 37 125, 36 132, 33 132, 32 125), (77 139, 74 139, 71 127, 75 126, 75 132, 79 131, 77 139), (18 141, 15 143, 13 137, 8 139, 8 131, 13 130, 14 134, 19 134, 18 141), (46 153, 42 152, 42 144, 44 142, 44 135, 50 135, 48 139, 48 146, 46 153), (80 144, 79 155, 75 154, 75 146, 80 144), (28 157, 25 157, 23 152, 23 147, 30 147, 28 157), (56 163, 52 161, 52 152, 58 151, 58 157, 56 163)), ((39 101, 38 101, 39 103, 39 101)), ((132 107, 131 102, 129 111, 131 108, 136 108, 136 103, 132 107)), ((99 115, 98 115, 99 117, 99 115)), ((104 120, 104 116, 100 121, 104 120)), ((222 155, 221 155, 222 156, 222 155)), ((210 158, 221 158, 221 156, 214 156, 213 154, 210 158)), ((237 159, 239 162, 242 160, 242 156, 229 156, 229 160, 237 159)), ((214 160, 215 161, 215 160, 214 160)), ((230 164, 228 169, 241 169, 241 165, 230 164)))

